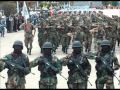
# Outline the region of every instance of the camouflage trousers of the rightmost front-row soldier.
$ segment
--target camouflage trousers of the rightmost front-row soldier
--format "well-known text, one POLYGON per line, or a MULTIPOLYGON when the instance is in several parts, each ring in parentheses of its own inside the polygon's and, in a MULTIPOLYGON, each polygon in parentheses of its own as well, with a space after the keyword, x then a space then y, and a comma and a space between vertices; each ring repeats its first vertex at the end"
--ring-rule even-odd
POLYGON ((114 82, 112 76, 99 77, 96 80, 96 88, 103 89, 106 85, 106 89, 114 89, 114 82))

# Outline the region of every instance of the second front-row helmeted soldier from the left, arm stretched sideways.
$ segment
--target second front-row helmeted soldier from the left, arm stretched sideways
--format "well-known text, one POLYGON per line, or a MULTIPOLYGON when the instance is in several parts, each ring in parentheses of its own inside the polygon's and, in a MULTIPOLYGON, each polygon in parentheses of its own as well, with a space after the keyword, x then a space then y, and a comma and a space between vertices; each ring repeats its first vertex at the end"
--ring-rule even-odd
POLYGON ((56 89, 57 74, 62 69, 61 62, 56 56, 52 55, 51 42, 45 42, 42 48, 43 55, 30 62, 30 67, 38 65, 38 70, 41 72, 40 89, 56 89))

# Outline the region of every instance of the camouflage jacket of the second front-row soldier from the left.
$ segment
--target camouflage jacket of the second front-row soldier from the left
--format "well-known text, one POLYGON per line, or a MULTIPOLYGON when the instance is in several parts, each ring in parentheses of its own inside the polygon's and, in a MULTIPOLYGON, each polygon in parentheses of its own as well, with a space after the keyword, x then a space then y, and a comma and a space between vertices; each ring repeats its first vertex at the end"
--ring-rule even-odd
POLYGON ((46 58, 45 56, 40 56, 30 62, 31 68, 37 65, 38 70, 41 72, 41 81, 46 82, 46 84, 57 83, 56 74, 62 70, 62 66, 60 60, 56 56, 52 56, 51 59, 46 58), (52 69, 51 67, 54 67, 56 70, 52 69))

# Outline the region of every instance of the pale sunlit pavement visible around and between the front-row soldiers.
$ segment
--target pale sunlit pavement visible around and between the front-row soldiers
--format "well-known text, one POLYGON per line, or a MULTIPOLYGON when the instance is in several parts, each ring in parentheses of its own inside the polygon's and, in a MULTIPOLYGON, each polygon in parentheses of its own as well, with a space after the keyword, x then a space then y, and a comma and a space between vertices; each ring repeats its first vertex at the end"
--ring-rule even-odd
MULTIPOLYGON (((38 38, 37 38, 37 34, 38 32, 36 32, 36 35, 34 37, 34 42, 33 42, 33 49, 32 49, 32 55, 28 55, 30 61, 34 60, 36 57, 40 56, 40 48, 38 46, 38 38)), ((19 32, 15 32, 15 33, 6 33, 5 37, 0 37, 0 58, 3 57, 6 54, 9 54, 10 52, 13 51, 12 45, 14 43, 15 40, 22 40, 24 41, 24 32, 23 31, 19 31, 19 32)), ((93 50, 93 45, 92 45, 92 50, 93 50)), ((94 51, 94 50, 93 50, 94 51)), ((71 45, 70 48, 68 50, 68 53, 71 53, 72 49, 71 49, 71 45)), ((24 46, 23 49, 23 53, 27 54, 27 49, 24 46)), ((120 47, 116 46, 116 56, 119 59, 120 62, 120 47)), ((57 53, 56 56, 58 56, 58 58, 62 58, 64 56, 66 56, 66 54, 61 52, 61 45, 60 47, 57 49, 57 53)), ((90 86, 90 84, 88 83, 88 89, 95 89, 95 80, 96 80, 96 71, 95 71, 95 61, 94 60, 90 60, 90 64, 92 65, 92 71, 89 77, 89 81, 92 83, 92 86, 90 86)), ((27 89, 38 89, 38 81, 40 79, 40 72, 37 69, 38 67, 32 68, 32 72, 35 73, 35 75, 32 74, 28 74, 26 76, 26 88, 27 89)), ((68 77, 68 68, 66 66, 63 67, 62 70, 62 75, 64 75, 66 78, 68 77)), ((0 75, 4 76, 5 79, 0 77, 0 88, 5 88, 5 82, 7 81, 7 69, 3 70, 0 75)), ((116 76, 119 77, 120 75, 120 70, 116 71, 116 76)), ((64 78, 62 78, 60 75, 57 75, 58 77, 58 85, 57 88, 60 89, 67 89, 67 82, 64 78)), ((120 77, 119 77, 120 79, 120 77)), ((116 89, 120 89, 120 85, 118 85, 118 81, 116 78, 114 78, 114 85, 116 89)))

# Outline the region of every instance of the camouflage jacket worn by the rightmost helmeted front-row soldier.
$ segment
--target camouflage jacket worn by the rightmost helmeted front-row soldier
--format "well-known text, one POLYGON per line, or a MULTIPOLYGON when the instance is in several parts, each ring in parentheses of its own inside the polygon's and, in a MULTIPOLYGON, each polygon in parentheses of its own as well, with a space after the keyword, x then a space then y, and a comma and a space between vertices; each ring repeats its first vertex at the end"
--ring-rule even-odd
POLYGON ((113 75, 114 70, 120 68, 117 57, 109 52, 107 54, 99 53, 96 57, 97 76, 113 75), (110 69, 109 69, 110 68, 110 69))

